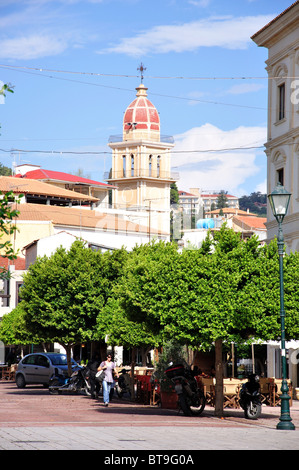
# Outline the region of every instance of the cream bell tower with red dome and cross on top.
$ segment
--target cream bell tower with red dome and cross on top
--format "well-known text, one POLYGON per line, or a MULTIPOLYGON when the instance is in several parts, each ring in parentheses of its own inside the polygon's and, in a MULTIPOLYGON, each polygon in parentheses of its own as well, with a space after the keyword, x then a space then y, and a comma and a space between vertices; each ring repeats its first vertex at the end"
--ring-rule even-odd
POLYGON ((122 136, 111 136, 108 144, 112 170, 107 181, 117 187, 113 207, 147 211, 143 225, 169 234, 170 185, 175 181, 170 163, 173 137, 160 136, 159 114, 147 98, 144 84, 136 91, 136 98, 124 113, 122 136))

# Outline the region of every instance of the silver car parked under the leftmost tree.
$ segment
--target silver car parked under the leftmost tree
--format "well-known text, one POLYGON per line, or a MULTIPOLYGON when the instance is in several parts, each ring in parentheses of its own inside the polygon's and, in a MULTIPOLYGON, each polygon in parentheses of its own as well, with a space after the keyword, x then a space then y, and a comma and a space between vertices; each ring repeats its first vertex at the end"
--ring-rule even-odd
MULTIPOLYGON (((79 368, 72 359, 72 369, 79 368)), ((18 364, 16 371, 16 384, 24 388, 27 384, 42 384, 48 386, 50 379, 58 372, 68 376, 66 354, 58 353, 32 353, 25 356, 18 364)))

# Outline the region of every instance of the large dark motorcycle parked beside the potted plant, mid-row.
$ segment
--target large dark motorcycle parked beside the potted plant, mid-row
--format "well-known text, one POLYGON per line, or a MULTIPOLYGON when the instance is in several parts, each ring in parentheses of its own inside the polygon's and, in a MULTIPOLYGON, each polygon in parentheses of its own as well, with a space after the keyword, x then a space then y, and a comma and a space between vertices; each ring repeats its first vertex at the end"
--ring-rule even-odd
POLYGON ((176 364, 168 367, 165 374, 174 384, 184 415, 199 416, 205 408, 206 398, 198 386, 193 371, 182 364, 176 364))

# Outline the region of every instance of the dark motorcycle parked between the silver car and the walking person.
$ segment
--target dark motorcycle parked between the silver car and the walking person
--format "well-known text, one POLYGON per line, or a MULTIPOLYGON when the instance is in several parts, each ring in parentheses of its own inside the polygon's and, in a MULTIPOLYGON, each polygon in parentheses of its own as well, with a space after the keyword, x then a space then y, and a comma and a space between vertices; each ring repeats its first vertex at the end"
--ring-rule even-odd
POLYGON ((56 375, 51 377, 49 383, 49 392, 54 394, 61 394, 62 392, 85 393, 90 396, 90 384, 86 378, 86 370, 82 367, 74 370, 70 377, 65 377, 59 369, 56 375))

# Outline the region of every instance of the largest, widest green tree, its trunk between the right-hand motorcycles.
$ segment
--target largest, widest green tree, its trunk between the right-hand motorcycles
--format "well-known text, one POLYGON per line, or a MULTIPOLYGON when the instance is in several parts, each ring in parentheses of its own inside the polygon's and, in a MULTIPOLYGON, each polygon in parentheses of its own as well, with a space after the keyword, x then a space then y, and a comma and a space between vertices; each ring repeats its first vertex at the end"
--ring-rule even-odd
MULTIPOLYGON (((286 262, 287 271, 295 272, 297 262, 298 257, 292 256, 286 262)), ((298 304, 292 304, 295 289, 296 282, 290 284, 287 275, 286 301, 292 306, 289 327, 298 325, 298 304)), ((164 341, 175 339, 194 349, 279 336, 275 242, 261 247, 256 237, 244 241, 225 226, 201 250, 179 254, 173 245, 162 242, 137 248, 127 264, 120 295, 130 319, 147 322, 164 341)), ((290 329, 293 336, 297 328, 290 329)), ((221 361, 222 391, 220 369, 221 361)), ((221 413, 221 403, 217 411, 221 413)))

